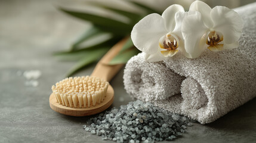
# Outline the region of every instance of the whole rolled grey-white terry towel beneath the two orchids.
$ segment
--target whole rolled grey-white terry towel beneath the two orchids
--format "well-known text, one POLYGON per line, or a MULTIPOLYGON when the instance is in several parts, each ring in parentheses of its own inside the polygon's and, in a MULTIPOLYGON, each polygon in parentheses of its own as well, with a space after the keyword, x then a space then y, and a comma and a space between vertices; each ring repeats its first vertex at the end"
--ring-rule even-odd
POLYGON ((235 9, 244 20, 237 49, 177 53, 157 63, 138 54, 128 61, 124 85, 132 98, 210 123, 256 96, 256 2, 235 9))

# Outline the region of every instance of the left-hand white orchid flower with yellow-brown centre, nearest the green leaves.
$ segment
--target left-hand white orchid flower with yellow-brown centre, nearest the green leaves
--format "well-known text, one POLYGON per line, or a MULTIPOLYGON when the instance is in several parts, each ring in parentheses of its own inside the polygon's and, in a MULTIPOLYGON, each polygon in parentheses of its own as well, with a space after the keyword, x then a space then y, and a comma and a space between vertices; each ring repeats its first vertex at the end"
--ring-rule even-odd
POLYGON ((146 53, 146 61, 161 61, 172 57, 179 49, 184 51, 181 35, 181 19, 184 17, 181 13, 186 13, 181 5, 171 5, 162 16, 149 14, 135 24, 131 39, 140 51, 146 53))

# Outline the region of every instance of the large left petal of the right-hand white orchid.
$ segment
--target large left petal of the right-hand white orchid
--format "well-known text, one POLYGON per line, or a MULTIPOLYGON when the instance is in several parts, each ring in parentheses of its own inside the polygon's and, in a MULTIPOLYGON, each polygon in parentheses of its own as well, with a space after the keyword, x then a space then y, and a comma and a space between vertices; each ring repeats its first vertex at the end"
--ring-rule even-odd
POLYGON ((184 46, 187 58, 197 58, 206 48, 205 35, 207 27, 203 24, 200 13, 189 15, 184 18, 181 26, 181 33, 184 38, 184 46))

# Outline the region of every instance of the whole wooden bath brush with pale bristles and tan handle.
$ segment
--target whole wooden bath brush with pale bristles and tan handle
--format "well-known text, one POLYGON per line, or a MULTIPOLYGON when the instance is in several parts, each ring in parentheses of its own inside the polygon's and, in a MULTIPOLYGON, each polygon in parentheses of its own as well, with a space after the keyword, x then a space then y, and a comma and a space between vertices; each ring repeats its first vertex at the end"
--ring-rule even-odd
POLYGON ((91 76, 69 77, 52 86, 50 107, 69 116, 89 116, 106 110, 113 102, 114 90, 109 81, 124 64, 109 65, 127 38, 116 43, 97 63, 91 76))

